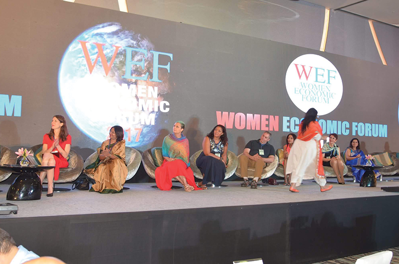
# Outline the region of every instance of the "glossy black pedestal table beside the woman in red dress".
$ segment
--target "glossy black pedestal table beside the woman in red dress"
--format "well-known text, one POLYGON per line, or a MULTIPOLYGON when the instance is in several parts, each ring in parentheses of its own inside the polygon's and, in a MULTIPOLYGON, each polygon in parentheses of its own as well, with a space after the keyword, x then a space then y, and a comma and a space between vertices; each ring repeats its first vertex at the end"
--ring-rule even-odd
POLYGON ((52 168, 54 166, 0 166, 0 170, 20 173, 9 187, 6 199, 8 201, 40 200, 42 187, 40 178, 36 175, 36 172, 52 168))

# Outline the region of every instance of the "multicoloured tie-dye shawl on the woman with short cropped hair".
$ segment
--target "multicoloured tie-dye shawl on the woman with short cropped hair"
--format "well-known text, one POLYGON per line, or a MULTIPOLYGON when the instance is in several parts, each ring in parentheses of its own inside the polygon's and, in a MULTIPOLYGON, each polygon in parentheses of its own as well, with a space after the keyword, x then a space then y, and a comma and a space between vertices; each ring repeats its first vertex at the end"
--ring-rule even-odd
POLYGON ((171 133, 164 138, 162 143, 162 155, 164 157, 181 159, 186 162, 187 167, 190 166, 190 147, 189 139, 182 134, 182 137, 177 138, 174 133, 171 133))

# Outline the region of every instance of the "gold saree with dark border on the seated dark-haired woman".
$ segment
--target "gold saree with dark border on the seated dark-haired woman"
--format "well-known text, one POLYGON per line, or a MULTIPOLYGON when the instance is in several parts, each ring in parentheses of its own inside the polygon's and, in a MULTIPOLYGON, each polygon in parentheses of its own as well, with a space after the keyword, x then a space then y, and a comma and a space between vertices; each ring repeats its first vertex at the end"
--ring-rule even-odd
POLYGON ((105 140, 101 147, 97 150, 98 155, 106 148, 111 148, 111 154, 116 158, 105 158, 99 160, 86 167, 87 172, 94 174, 96 181, 90 191, 100 193, 118 193, 122 192, 123 184, 125 184, 128 175, 128 168, 125 165, 125 140, 109 144, 109 140, 105 140))

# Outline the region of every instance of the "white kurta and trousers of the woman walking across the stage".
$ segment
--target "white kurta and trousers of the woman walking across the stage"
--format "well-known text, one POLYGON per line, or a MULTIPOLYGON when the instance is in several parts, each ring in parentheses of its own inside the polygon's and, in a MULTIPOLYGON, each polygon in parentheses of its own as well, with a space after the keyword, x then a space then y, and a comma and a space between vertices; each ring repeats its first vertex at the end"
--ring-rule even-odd
MULTIPOLYGON (((302 180, 315 179, 320 186, 326 185, 325 178, 316 177, 316 168, 318 164, 317 141, 321 139, 321 134, 315 135, 309 141, 302 141, 295 139, 292 144, 287 160, 286 173, 291 173, 291 183, 296 183, 299 186, 302 180)), ((322 157, 320 157, 322 158, 322 157)))

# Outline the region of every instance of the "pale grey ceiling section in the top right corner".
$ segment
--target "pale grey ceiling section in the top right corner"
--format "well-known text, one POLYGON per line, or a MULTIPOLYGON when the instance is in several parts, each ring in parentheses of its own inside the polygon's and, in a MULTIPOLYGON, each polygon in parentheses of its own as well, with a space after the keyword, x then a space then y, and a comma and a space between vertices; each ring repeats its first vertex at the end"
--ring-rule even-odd
POLYGON ((399 26, 399 0, 305 0, 399 26))

